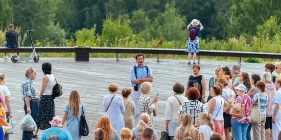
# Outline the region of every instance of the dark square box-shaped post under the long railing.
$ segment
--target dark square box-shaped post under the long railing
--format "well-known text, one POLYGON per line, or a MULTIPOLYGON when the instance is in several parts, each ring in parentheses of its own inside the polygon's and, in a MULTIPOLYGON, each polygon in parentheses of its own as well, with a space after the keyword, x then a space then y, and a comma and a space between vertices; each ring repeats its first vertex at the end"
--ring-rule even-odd
POLYGON ((74 46, 75 47, 75 60, 76 61, 89 61, 89 46, 74 46))

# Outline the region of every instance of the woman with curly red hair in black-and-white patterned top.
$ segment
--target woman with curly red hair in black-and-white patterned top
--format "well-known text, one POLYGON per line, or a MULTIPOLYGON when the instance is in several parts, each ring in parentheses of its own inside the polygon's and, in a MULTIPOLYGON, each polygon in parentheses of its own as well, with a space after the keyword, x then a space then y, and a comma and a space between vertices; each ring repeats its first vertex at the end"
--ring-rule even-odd
POLYGON ((200 92, 197 88, 192 87, 188 90, 186 96, 189 100, 183 102, 180 106, 178 110, 178 118, 179 115, 190 114, 193 118, 193 124, 198 124, 199 114, 202 112, 206 112, 204 104, 198 101, 198 98, 200 97, 200 92))

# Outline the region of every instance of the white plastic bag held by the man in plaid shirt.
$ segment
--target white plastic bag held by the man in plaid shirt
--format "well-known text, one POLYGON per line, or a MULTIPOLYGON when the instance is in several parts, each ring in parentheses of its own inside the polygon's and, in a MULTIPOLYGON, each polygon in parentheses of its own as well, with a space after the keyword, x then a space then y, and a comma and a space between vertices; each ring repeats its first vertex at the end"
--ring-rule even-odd
POLYGON ((20 122, 20 129, 25 131, 35 131, 37 129, 36 123, 30 114, 27 114, 20 122))

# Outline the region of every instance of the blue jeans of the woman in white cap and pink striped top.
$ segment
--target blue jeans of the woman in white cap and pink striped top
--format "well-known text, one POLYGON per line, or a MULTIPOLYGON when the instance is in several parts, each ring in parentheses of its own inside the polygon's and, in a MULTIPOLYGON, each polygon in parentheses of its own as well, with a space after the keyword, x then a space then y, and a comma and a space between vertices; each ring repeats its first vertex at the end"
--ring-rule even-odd
POLYGON ((235 140, 245 140, 246 132, 249 124, 239 123, 236 120, 231 120, 231 127, 233 129, 235 140))

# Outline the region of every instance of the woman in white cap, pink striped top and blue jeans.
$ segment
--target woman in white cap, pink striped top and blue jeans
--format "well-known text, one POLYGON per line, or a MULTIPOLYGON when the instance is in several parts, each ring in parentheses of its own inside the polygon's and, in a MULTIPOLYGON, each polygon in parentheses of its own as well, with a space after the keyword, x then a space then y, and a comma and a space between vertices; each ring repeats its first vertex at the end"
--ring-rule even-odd
MULTIPOLYGON (((246 95, 246 87, 243 84, 238 85, 236 88, 237 97, 234 103, 231 103, 231 107, 236 111, 240 111, 241 104, 245 105, 244 117, 238 118, 232 116, 231 126, 236 140, 246 139, 247 128, 250 124, 250 113, 252 111, 252 100, 251 97, 246 95)), ((230 102, 230 101, 229 101, 230 102)))

